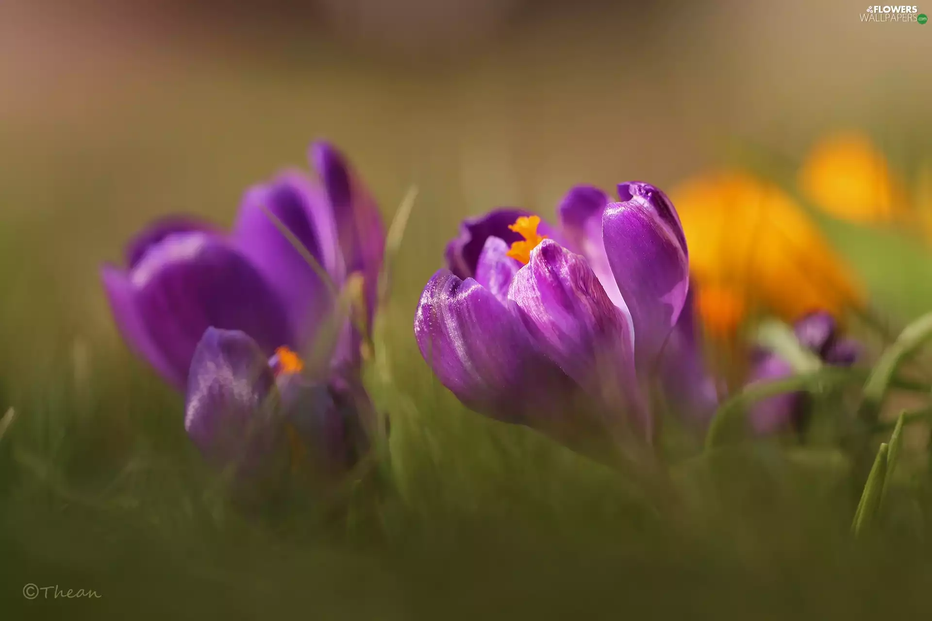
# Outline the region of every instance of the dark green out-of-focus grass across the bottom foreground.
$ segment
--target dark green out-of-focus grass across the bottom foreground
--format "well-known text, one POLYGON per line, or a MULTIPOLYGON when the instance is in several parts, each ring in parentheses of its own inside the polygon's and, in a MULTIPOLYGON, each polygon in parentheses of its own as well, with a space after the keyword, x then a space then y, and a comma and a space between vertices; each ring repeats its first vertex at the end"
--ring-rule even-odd
POLYGON ((658 516, 617 474, 464 412, 417 360, 395 363, 396 390, 375 394, 394 416, 384 470, 348 490, 349 507, 297 495, 255 515, 213 493, 178 398, 125 355, 85 388, 65 363, 18 387, 0 442, 9 618, 928 610, 930 550, 915 538, 928 520, 899 490, 883 541, 855 546, 854 499, 831 454, 789 461, 758 446, 679 466, 683 505, 658 516), (25 601, 30 582, 102 598, 25 601))

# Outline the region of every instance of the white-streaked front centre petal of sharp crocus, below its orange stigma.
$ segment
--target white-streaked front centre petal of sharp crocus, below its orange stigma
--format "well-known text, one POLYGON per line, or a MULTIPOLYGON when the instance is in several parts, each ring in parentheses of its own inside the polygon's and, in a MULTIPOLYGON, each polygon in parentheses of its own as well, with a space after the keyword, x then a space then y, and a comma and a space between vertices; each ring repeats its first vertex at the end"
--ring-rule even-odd
POLYGON ((520 309, 535 344, 560 369, 590 394, 608 398, 649 426, 627 317, 582 256, 545 239, 515 275, 508 298, 520 309))

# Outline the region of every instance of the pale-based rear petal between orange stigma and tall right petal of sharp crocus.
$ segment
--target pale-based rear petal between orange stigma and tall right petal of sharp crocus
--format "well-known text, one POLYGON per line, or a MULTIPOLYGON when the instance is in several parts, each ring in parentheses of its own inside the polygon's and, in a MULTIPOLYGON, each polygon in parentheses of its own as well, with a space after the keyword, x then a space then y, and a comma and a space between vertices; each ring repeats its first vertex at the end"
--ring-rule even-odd
POLYGON ((577 185, 569 190, 557 211, 569 248, 586 258, 611 302, 627 313, 627 304, 624 304, 622 292, 618 290, 618 284, 611 273, 609 256, 605 253, 602 241, 602 214, 608 204, 609 196, 598 188, 577 185))

